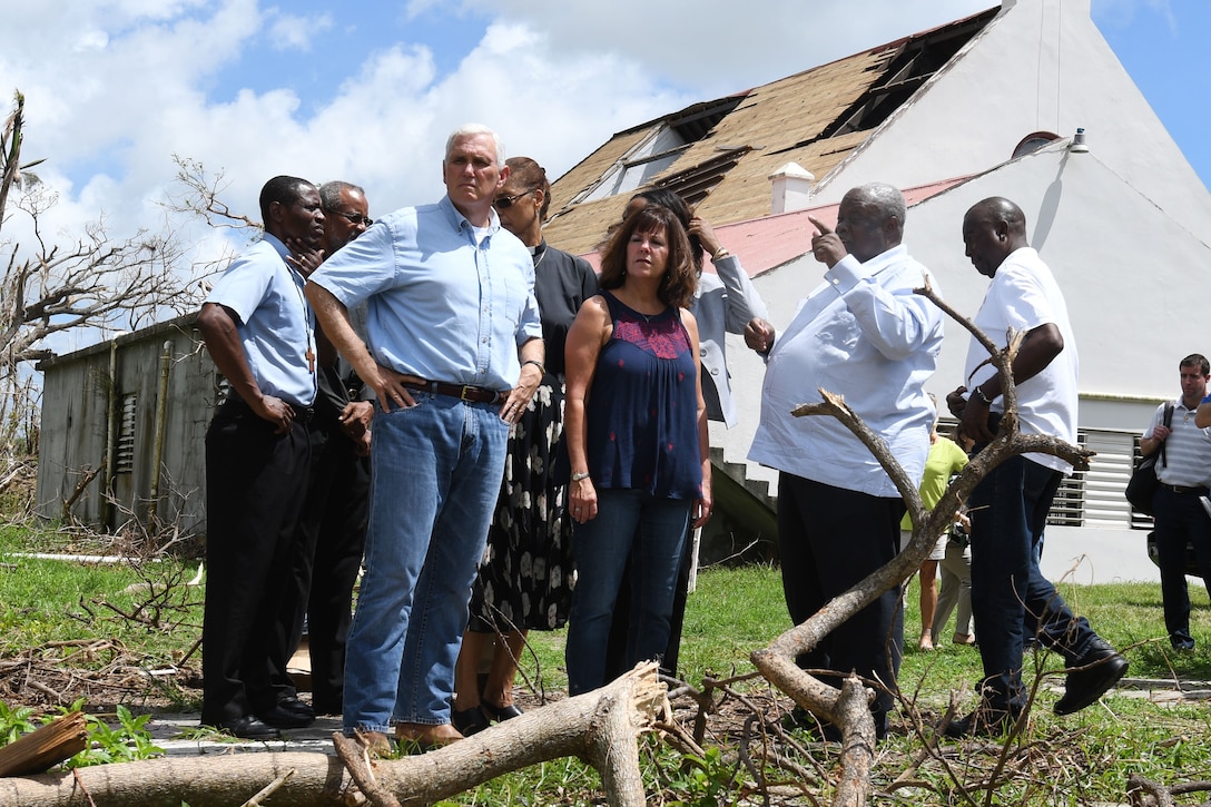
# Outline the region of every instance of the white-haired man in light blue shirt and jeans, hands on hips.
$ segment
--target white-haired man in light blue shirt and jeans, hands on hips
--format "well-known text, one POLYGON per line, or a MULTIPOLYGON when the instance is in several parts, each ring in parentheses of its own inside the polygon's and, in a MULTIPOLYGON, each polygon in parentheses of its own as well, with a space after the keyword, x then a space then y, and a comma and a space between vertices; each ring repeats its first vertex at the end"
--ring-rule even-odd
POLYGON ((500 491, 509 429, 543 378, 534 262, 492 208, 509 177, 490 130, 450 136, 447 195, 377 221, 306 286, 325 333, 378 395, 366 577, 344 725, 444 745, 454 660, 500 491), (367 301, 365 344, 348 309, 367 301))

